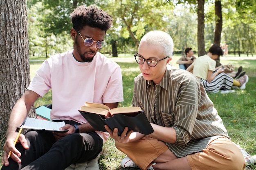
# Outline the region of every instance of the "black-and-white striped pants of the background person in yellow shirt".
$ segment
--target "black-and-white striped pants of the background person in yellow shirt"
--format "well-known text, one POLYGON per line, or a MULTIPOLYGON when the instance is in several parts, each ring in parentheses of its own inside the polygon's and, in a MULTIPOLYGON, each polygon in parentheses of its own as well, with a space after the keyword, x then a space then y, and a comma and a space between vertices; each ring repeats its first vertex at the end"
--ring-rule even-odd
POLYGON ((234 80, 226 73, 220 73, 211 82, 208 82, 206 79, 202 78, 200 78, 200 81, 204 85, 207 93, 217 93, 220 90, 230 90, 234 80))

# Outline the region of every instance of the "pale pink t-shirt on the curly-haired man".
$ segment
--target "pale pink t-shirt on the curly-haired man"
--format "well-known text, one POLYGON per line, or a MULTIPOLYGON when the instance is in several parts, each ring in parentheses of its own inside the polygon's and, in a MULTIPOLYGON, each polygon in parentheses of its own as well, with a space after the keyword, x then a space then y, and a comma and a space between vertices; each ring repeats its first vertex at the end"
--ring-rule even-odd
MULTIPOLYGON (((73 50, 54 55, 40 66, 27 89, 41 97, 52 89, 51 120, 87 121, 79 113, 85 102, 123 102, 120 66, 101 53, 92 62, 77 62, 73 50)), ((105 142, 109 134, 97 133, 105 142)))

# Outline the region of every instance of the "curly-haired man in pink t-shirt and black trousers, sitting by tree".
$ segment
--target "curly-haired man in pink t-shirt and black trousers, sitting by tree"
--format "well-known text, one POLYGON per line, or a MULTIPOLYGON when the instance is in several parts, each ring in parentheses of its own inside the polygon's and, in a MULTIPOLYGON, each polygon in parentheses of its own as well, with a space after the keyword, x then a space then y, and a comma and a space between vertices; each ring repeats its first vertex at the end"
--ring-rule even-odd
POLYGON ((96 158, 109 137, 106 132, 95 131, 78 110, 84 102, 105 104, 111 109, 123 101, 120 66, 99 53, 112 18, 96 7, 80 6, 71 13, 71 21, 74 49, 45 60, 11 112, 2 170, 64 170, 96 158), (16 128, 36 99, 49 89, 51 120, 64 120, 61 130, 68 131, 30 130, 20 135, 15 148, 16 128))

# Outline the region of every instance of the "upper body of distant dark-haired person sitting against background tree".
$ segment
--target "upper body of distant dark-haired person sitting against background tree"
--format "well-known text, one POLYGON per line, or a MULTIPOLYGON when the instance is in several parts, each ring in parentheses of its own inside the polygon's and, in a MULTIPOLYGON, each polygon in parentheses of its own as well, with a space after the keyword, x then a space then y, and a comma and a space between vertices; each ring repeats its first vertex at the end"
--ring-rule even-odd
POLYGON ((179 68, 182 70, 186 70, 186 68, 188 68, 196 59, 196 57, 194 57, 192 48, 186 48, 184 53, 185 55, 180 57, 180 59, 176 62, 179 64, 179 68))

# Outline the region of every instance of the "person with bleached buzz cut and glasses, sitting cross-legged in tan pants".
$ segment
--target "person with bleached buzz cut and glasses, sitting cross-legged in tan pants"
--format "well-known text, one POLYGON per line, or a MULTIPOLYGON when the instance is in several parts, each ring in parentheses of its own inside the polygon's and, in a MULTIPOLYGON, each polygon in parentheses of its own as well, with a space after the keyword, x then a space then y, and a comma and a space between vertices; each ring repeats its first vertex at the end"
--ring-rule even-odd
POLYGON ((243 170, 245 159, 231 142, 200 80, 168 64, 173 40, 162 31, 141 39, 135 59, 141 74, 134 79, 132 106, 144 110, 154 132, 128 128, 117 134, 105 126, 126 167, 142 170, 243 170))

